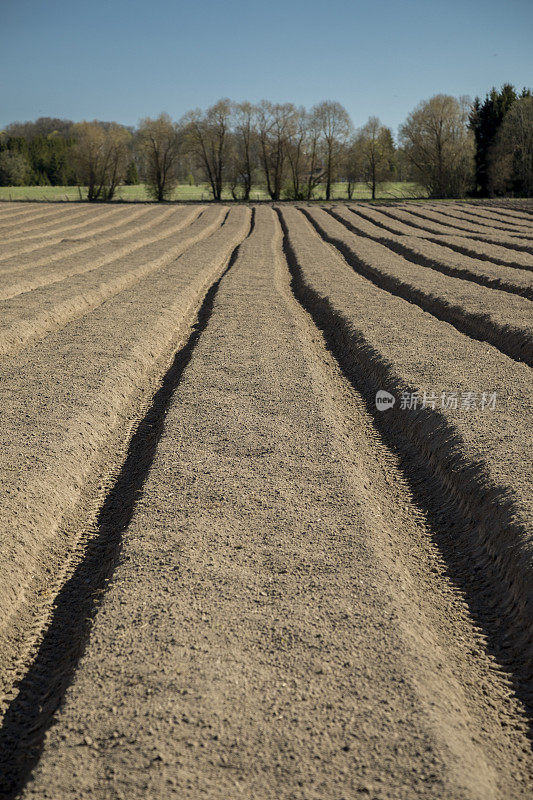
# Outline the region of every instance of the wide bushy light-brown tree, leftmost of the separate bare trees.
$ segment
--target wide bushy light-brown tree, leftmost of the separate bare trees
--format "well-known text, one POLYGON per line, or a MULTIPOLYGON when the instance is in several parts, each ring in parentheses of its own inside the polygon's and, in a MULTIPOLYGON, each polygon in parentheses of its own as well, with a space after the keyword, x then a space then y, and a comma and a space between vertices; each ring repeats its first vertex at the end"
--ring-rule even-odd
POLYGON ((131 133, 115 122, 79 122, 72 128, 76 143, 72 161, 88 200, 111 200, 123 182, 131 157, 131 133))

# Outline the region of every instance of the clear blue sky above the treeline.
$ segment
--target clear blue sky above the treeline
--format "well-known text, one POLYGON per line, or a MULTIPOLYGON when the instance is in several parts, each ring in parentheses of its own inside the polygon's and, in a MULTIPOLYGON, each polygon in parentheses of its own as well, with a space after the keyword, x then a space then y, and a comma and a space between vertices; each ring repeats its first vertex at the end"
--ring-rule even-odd
POLYGON ((230 97, 338 100, 395 130, 438 92, 531 85, 532 41, 527 0, 0 0, 0 126, 230 97))

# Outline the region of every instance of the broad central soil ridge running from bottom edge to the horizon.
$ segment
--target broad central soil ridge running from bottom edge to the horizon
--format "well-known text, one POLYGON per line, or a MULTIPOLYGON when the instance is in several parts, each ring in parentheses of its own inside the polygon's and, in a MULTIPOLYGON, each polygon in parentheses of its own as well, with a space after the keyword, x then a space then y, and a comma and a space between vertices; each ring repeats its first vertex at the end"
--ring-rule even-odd
MULTIPOLYGON (((410 595, 398 565, 409 536, 385 521, 390 492, 374 494, 352 457, 361 439, 352 448, 343 422, 354 414, 357 430, 362 415, 335 409, 332 359, 291 308, 280 245, 272 210, 258 209, 106 500, 99 555, 112 580, 80 569, 70 586, 70 597, 88 594, 83 578, 101 590, 97 613, 90 596, 76 608, 75 621, 93 621, 83 659, 72 665, 67 645, 56 665, 47 636, 9 709, 3 742, 11 733, 28 759, 21 717, 39 727, 61 698, 55 676, 61 688, 74 672, 26 800, 45 787, 103 800, 108 774, 130 800, 227 798, 236 771, 254 798, 364 794, 378 778, 398 800, 414 789, 495 800, 503 782, 519 796, 520 747, 481 691, 472 708, 468 681, 483 672, 461 673, 478 639, 458 626, 457 661, 453 635, 450 646, 431 624, 420 569, 410 595), (175 778, 163 791, 159 769, 146 770, 154 757, 175 778)), ((79 636, 68 605, 65 592, 56 652, 79 636)), ((457 604, 444 607, 455 616, 457 604)), ((484 686, 503 711, 503 687, 484 686)), ((524 745, 523 725, 513 733, 524 745)))

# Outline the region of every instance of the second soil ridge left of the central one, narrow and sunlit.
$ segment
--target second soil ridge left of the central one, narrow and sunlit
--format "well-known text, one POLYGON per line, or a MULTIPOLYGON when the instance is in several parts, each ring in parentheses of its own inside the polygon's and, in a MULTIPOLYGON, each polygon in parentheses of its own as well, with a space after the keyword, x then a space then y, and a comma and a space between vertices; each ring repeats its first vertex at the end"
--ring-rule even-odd
MULTIPOLYGON (((193 212, 194 213, 194 212, 193 212)), ((51 284, 5 301, 0 321, 0 355, 20 350, 94 311, 104 301, 129 288, 147 275, 176 261, 193 244, 220 227, 227 210, 213 208, 181 232, 157 239, 153 245, 136 248, 138 266, 131 266, 131 252, 107 258, 105 269, 75 275, 66 284, 51 284), (177 237, 178 243, 172 239, 177 237), (168 240, 171 241, 168 241, 168 240), (151 248, 151 250, 150 250, 151 248), (148 250, 143 255, 143 250, 148 250), (155 257, 154 257, 155 256, 155 257)))

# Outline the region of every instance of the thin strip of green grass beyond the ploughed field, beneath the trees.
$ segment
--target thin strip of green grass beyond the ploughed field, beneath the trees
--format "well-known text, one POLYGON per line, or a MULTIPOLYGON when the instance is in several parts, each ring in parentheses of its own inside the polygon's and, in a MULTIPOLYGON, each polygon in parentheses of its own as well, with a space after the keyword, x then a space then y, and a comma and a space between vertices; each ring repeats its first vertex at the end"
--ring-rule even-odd
MULTIPOLYGON (((77 186, 0 186, 0 200, 54 200, 54 201, 67 201, 67 200, 80 200, 85 199, 84 187, 78 188, 77 186)), ((407 181, 396 181, 393 183, 385 183, 380 187, 378 198, 402 198, 402 197, 423 197, 424 190, 416 183, 409 183, 407 181)), ((337 183, 333 189, 333 196, 335 199, 345 200, 346 184, 337 183)), ((316 199, 321 200, 324 198, 324 191, 318 190, 316 192, 316 199)), ((357 200, 370 200, 371 193, 365 183, 358 183, 354 199, 357 200)), ((116 200, 149 200, 146 193, 144 184, 139 186, 121 186, 117 192, 116 200)), ((173 195, 173 200, 191 200, 203 201, 210 200, 211 193, 207 184, 199 184, 198 186, 189 186, 188 184, 180 184, 176 187, 173 195)), ((231 193, 229 191, 224 193, 224 199, 230 200, 231 193)), ((254 188, 251 195, 252 200, 268 200, 267 192, 258 187, 254 188)))

